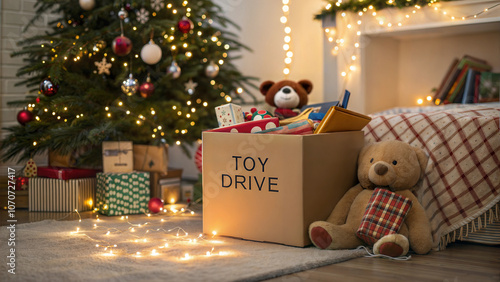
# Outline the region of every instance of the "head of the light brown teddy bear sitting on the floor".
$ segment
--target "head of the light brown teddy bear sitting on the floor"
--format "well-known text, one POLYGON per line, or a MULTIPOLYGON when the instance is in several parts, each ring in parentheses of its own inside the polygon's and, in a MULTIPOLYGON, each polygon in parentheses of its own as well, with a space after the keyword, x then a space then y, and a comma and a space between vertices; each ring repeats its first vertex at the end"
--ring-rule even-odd
POLYGON ((358 158, 358 179, 364 189, 414 189, 423 178, 427 155, 408 143, 391 140, 365 146, 358 158))

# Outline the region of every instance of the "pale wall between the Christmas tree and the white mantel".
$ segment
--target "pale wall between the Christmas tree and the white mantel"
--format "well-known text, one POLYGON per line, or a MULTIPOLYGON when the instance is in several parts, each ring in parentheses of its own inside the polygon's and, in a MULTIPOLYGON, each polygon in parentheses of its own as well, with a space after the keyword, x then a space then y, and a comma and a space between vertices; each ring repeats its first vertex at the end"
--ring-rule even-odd
MULTIPOLYGON (((215 0, 225 12, 225 16, 238 24, 241 30, 239 41, 253 52, 243 52, 243 57, 235 61, 239 70, 248 76, 264 80, 279 81, 284 79, 283 51, 284 25, 280 22, 283 15, 281 0, 215 0)), ((289 25, 292 29, 292 50, 294 52, 290 80, 309 79, 313 91, 309 103, 324 100, 323 89, 323 30, 321 22, 314 20, 314 15, 323 7, 323 0, 290 0, 289 25)), ((258 91, 252 93, 259 99, 263 96, 258 91)), ((197 149, 197 145, 193 148, 197 149)), ((169 165, 184 168, 183 177, 197 177, 194 161, 187 158, 176 146, 170 147, 169 165)))

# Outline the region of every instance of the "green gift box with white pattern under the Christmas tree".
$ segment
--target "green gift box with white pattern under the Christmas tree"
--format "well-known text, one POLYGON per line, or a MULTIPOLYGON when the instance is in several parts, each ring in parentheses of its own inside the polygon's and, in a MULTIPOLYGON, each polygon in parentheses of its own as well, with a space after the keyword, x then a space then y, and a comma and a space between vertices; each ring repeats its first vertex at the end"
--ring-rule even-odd
POLYGON ((149 199, 149 172, 97 174, 96 206, 102 214, 145 213, 149 199))

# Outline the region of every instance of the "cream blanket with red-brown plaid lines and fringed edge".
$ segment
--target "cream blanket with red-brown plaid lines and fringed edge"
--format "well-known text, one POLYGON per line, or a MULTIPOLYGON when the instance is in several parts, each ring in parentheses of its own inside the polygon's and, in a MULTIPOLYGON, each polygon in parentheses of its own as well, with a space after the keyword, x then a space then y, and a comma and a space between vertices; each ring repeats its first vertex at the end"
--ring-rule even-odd
POLYGON ((367 143, 396 139, 429 155, 415 193, 431 222, 434 247, 443 249, 499 203, 500 105, 433 108, 372 115, 363 130, 367 143))

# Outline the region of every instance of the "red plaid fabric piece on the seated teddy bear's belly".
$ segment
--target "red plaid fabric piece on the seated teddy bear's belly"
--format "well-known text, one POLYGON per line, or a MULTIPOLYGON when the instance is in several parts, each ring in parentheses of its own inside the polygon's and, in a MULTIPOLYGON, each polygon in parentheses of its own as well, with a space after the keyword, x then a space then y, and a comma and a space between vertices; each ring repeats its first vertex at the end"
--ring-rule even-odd
POLYGON ((376 188, 368 202, 356 236, 369 245, 380 238, 398 233, 410 210, 410 199, 387 189, 376 188))

